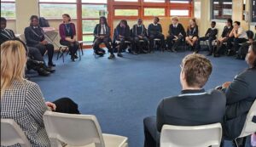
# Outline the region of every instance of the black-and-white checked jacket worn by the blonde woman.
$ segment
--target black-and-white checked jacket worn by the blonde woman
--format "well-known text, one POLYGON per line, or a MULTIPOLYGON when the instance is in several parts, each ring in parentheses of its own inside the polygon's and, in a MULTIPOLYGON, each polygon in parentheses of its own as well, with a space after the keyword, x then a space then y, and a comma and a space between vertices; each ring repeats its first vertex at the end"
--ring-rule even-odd
POLYGON ((12 82, 1 97, 1 119, 14 119, 33 146, 50 146, 43 115, 48 110, 34 82, 12 82))

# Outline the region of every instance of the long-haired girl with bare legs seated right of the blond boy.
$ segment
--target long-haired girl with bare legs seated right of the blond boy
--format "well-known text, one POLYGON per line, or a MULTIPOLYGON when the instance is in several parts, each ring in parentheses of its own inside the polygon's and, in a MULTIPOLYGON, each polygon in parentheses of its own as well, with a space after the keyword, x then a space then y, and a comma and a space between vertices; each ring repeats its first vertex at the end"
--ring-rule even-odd
POLYGON ((189 26, 187 29, 186 42, 189 43, 191 50, 195 49, 195 44, 198 40, 198 25, 196 25, 195 19, 189 20, 189 26))

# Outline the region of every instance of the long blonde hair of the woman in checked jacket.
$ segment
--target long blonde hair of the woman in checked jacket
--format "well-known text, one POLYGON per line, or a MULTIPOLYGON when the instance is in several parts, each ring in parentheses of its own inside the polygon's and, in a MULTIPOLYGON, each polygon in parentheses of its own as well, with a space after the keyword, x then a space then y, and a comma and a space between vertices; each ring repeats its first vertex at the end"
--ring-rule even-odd
POLYGON ((14 80, 22 82, 25 76, 26 48, 17 40, 1 44, 1 98, 14 80))

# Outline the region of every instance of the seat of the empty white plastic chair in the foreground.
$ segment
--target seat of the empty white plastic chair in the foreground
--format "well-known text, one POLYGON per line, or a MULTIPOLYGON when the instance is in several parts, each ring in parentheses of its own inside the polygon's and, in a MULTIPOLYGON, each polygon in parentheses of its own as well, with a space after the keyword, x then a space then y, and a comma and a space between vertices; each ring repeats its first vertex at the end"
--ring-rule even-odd
MULTIPOLYGON (((102 133, 105 147, 128 147, 127 138, 124 136, 102 133)), ((84 146, 66 145, 65 147, 96 147, 95 144, 88 144, 84 146)))

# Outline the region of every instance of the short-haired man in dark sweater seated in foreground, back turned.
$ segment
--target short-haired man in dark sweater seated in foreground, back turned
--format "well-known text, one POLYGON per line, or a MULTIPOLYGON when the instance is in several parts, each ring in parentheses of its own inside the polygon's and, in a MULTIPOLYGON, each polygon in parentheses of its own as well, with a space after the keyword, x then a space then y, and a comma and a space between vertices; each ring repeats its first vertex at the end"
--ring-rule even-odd
MULTIPOLYGON (((160 101, 156 117, 143 120, 144 147, 159 146, 160 131, 164 124, 198 126, 222 122, 226 99, 218 90, 206 92, 203 86, 212 73, 212 64, 201 54, 189 54, 181 64, 182 92, 160 101)), ((211 134, 209 134, 211 135, 211 134)))

